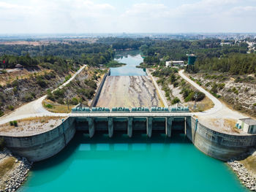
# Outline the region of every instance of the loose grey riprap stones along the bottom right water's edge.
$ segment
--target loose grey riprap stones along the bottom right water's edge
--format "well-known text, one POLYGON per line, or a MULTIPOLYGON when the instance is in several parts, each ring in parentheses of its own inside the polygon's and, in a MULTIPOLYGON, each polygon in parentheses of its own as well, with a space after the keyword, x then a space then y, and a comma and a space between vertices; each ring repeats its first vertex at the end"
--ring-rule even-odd
POLYGON ((227 164, 236 172, 241 183, 251 191, 256 191, 256 178, 239 161, 230 160, 227 164))

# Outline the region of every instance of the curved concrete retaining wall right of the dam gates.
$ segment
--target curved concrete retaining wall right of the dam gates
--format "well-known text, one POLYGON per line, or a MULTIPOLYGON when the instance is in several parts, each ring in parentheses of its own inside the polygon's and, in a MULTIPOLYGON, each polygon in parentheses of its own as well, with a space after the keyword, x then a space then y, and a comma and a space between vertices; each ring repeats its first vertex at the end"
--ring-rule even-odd
POLYGON ((187 118, 187 137, 206 155, 227 161, 256 147, 256 135, 231 135, 214 131, 195 118, 187 118))

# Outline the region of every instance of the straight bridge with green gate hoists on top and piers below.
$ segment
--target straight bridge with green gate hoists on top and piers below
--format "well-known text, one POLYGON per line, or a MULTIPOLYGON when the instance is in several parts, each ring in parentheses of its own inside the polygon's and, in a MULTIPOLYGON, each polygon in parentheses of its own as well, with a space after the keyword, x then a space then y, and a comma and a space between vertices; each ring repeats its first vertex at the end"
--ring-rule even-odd
POLYGON ((69 115, 75 118, 76 128, 88 131, 93 137, 95 131, 105 131, 113 137, 114 131, 125 131, 132 137, 132 131, 164 131, 171 137, 172 130, 186 131, 187 118, 192 115, 188 107, 75 107, 69 115))

